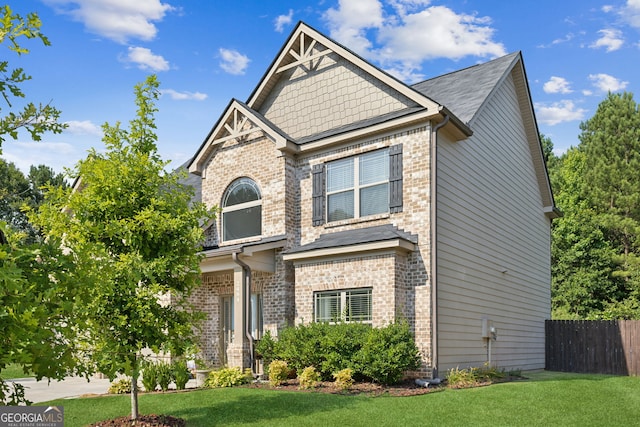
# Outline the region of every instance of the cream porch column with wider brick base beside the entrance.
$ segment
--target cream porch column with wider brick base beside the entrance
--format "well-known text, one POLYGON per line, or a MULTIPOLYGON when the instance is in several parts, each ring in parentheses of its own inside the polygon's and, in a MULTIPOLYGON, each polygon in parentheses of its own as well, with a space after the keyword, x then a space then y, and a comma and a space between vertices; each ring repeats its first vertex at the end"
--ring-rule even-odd
POLYGON ((230 367, 250 368, 249 340, 245 335, 246 324, 246 286, 247 275, 237 266, 233 269, 233 342, 227 349, 227 361, 230 367))

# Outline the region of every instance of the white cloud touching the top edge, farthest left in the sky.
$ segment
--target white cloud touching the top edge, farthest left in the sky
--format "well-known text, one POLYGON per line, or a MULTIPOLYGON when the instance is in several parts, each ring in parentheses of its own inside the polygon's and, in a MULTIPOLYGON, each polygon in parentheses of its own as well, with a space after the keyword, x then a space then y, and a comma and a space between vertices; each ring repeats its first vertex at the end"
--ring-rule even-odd
POLYGON ((82 22, 88 31, 118 43, 129 39, 152 40, 173 6, 160 0, 45 0, 56 11, 82 22))

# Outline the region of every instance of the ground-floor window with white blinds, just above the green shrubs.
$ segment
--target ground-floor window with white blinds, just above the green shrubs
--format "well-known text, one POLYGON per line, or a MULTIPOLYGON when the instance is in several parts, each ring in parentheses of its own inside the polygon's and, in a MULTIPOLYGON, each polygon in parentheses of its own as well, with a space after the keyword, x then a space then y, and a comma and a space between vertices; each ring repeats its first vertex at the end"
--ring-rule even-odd
POLYGON ((315 292, 313 299, 316 322, 371 322, 371 288, 315 292))

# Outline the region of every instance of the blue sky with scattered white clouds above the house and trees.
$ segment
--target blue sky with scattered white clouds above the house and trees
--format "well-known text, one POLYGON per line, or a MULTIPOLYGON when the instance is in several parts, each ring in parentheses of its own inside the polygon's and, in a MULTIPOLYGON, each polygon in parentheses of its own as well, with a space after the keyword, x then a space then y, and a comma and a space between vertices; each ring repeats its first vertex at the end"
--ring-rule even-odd
MULTIPOLYGON (((608 91, 637 95, 640 0, 19 0, 37 12, 51 46, 25 43, 12 67, 33 79, 27 99, 51 102, 69 127, 2 157, 23 171, 61 172, 104 149, 101 125, 128 125, 133 87, 155 73, 158 150, 171 166, 195 154, 231 98, 245 101, 298 21, 407 83, 522 51, 540 132, 557 152, 608 91)), ((0 100, 1 101, 1 100, 0 100)), ((636 96, 636 102, 639 99, 636 96)), ((7 106, 2 105, 2 113, 7 106)))

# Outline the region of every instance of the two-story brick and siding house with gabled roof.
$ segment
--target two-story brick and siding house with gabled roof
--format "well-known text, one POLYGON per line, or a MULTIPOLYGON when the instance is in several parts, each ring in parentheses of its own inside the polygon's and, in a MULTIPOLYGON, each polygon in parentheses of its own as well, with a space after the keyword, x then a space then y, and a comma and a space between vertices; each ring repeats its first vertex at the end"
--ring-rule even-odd
POLYGON ((557 213, 520 53, 409 86, 300 23, 188 168, 221 208, 194 294, 212 363, 404 318, 425 373, 544 367, 557 213))

